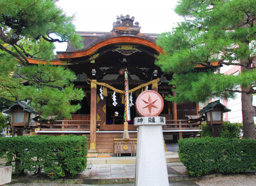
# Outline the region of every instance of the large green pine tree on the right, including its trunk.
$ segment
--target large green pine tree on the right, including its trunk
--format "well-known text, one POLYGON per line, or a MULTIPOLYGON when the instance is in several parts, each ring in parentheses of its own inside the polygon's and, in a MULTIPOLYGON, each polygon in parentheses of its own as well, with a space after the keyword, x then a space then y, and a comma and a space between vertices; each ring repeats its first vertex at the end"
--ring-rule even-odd
POLYGON ((175 12, 184 21, 158 39, 165 53, 156 63, 164 72, 174 74, 170 84, 178 92, 167 99, 205 102, 242 93, 244 138, 255 139, 252 94, 256 93, 256 1, 180 0, 175 12), (223 65, 238 65, 241 73, 214 73, 223 65), (204 72, 196 70, 199 66, 204 72))

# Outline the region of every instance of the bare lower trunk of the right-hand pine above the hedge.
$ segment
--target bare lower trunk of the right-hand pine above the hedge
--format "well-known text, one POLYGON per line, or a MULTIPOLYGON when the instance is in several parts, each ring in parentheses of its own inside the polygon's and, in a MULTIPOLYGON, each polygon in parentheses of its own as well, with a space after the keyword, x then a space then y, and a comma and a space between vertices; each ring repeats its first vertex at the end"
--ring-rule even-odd
POLYGON ((244 138, 255 140, 255 126, 253 120, 252 94, 242 93, 242 115, 244 125, 244 138))

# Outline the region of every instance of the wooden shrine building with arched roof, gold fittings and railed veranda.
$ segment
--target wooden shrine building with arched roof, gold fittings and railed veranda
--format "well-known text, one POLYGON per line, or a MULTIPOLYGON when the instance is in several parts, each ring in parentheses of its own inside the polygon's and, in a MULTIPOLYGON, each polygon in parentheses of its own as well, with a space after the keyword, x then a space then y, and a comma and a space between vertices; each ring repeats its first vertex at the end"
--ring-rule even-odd
MULTIPOLYGON (((73 133, 86 135, 89 152, 113 153, 114 139, 123 138, 124 94, 123 69, 127 68, 130 101, 135 100, 145 89, 155 90, 162 97, 175 96, 174 88, 168 85, 172 75, 164 74, 155 60, 163 49, 156 45, 160 34, 141 33, 134 17, 117 16, 111 32, 77 32, 83 38, 84 48, 76 50, 68 45, 67 50, 57 52, 57 60, 51 64, 63 65, 76 73, 75 87, 82 88, 86 97, 79 102, 82 108, 71 120, 55 120, 31 125, 37 135, 65 135, 73 133), (132 90, 132 91, 131 91, 132 90), (115 97, 115 106, 113 105, 115 97), (118 115, 115 114, 118 112, 118 115)), ((37 60, 28 59, 30 63, 37 60)), ((197 115, 197 103, 176 105, 164 101, 160 113, 166 118, 163 128, 164 140, 177 142, 177 139, 196 136, 199 123, 188 123, 185 115, 197 115), (193 127, 192 127, 193 126, 193 127)), ((137 138, 137 128, 133 118, 138 117, 135 106, 130 107, 131 120, 128 131, 131 140, 137 138)), ((97 155, 96 155, 97 156, 97 155)))

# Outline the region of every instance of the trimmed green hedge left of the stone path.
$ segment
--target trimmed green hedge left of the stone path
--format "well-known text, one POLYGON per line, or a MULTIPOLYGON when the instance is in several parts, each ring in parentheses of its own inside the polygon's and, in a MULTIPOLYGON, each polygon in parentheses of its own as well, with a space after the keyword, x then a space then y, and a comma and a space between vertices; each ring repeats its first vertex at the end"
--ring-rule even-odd
POLYGON ((0 157, 7 161, 14 157, 20 175, 24 170, 37 174, 43 168, 50 178, 74 177, 86 168, 87 138, 83 136, 2 137, 0 144, 0 157))

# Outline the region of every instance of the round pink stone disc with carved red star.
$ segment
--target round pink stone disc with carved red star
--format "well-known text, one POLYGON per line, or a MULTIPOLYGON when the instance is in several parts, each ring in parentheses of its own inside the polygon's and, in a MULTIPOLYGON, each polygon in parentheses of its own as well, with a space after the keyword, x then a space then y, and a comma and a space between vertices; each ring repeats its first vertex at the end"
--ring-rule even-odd
POLYGON ((164 100, 156 91, 146 90, 138 96, 135 106, 141 116, 158 116, 164 108, 164 100))

